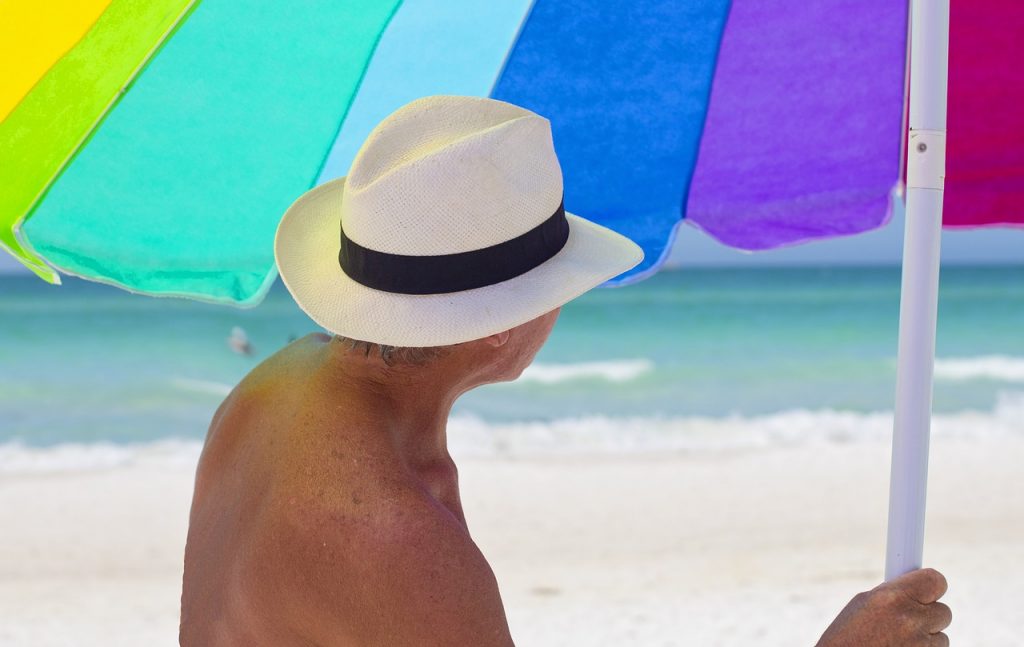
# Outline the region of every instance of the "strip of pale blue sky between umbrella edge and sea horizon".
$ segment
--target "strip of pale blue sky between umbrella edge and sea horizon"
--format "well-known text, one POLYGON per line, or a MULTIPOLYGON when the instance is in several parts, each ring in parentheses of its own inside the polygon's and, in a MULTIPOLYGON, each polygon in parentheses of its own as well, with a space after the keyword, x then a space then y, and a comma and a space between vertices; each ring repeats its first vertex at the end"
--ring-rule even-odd
MULTIPOLYGON (((768 252, 745 253, 715 242, 685 223, 669 257, 669 266, 729 265, 895 265, 903 246, 903 221, 893 218, 885 227, 830 241, 818 241, 768 252)), ((942 262, 949 264, 1024 263, 1024 228, 945 229, 942 262)), ((27 273, 0 251, 0 273, 27 273)))

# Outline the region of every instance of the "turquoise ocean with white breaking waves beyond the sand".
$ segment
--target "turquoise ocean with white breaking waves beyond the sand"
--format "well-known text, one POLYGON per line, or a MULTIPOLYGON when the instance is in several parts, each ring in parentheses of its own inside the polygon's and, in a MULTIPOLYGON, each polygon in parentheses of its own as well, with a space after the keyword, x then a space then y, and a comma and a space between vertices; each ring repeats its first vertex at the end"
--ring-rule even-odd
MULTIPOLYGON (((899 283, 897 267, 686 268, 592 291, 522 378, 456 404, 453 450, 885 438, 899 283)), ((0 471, 195 460, 231 387, 315 330, 280 283, 241 310, 0 276, 0 471)), ((1024 265, 943 268, 937 356, 936 434, 1024 434, 1024 265)))

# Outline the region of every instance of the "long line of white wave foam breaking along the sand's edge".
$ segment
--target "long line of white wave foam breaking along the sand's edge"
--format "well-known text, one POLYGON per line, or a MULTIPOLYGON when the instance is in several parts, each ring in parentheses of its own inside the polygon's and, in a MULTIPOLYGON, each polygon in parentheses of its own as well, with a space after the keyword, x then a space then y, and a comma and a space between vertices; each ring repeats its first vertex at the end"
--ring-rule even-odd
MULTIPOLYGON (((888 442, 892 413, 793 409, 766 416, 677 418, 566 418, 548 422, 489 423, 458 416, 449 423, 453 455, 518 458, 757 450, 769 447, 888 442)), ((1024 392, 1000 393, 991 411, 935 416, 936 438, 1024 438, 1024 392)), ((0 444, 0 476, 92 471, 138 466, 191 469, 199 440, 150 443, 68 443, 31 447, 0 444)))

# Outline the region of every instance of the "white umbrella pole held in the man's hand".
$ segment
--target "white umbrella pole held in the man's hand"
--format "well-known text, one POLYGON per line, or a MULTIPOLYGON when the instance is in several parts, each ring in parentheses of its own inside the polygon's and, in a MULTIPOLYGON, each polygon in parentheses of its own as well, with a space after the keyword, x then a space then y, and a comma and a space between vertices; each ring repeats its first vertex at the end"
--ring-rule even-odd
POLYGON ((920 568, 939 296, 949 0, 913 0, 910 135, 886 579, 920 568))

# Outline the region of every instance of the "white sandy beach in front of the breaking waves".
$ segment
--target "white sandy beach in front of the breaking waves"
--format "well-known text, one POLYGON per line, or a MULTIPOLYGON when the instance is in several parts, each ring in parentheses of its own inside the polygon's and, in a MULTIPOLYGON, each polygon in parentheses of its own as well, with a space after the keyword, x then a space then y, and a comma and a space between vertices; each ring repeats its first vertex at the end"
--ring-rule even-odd
MULTIPOLYGON (((954 645, 1024 644, 1024 439, 933 447, 954 645)), ((814 645, 881 578, 888 446, 463 460, 519 645, 814 645)), ((187 465, 0 475, 0 645, 174 645, 187 465)))

